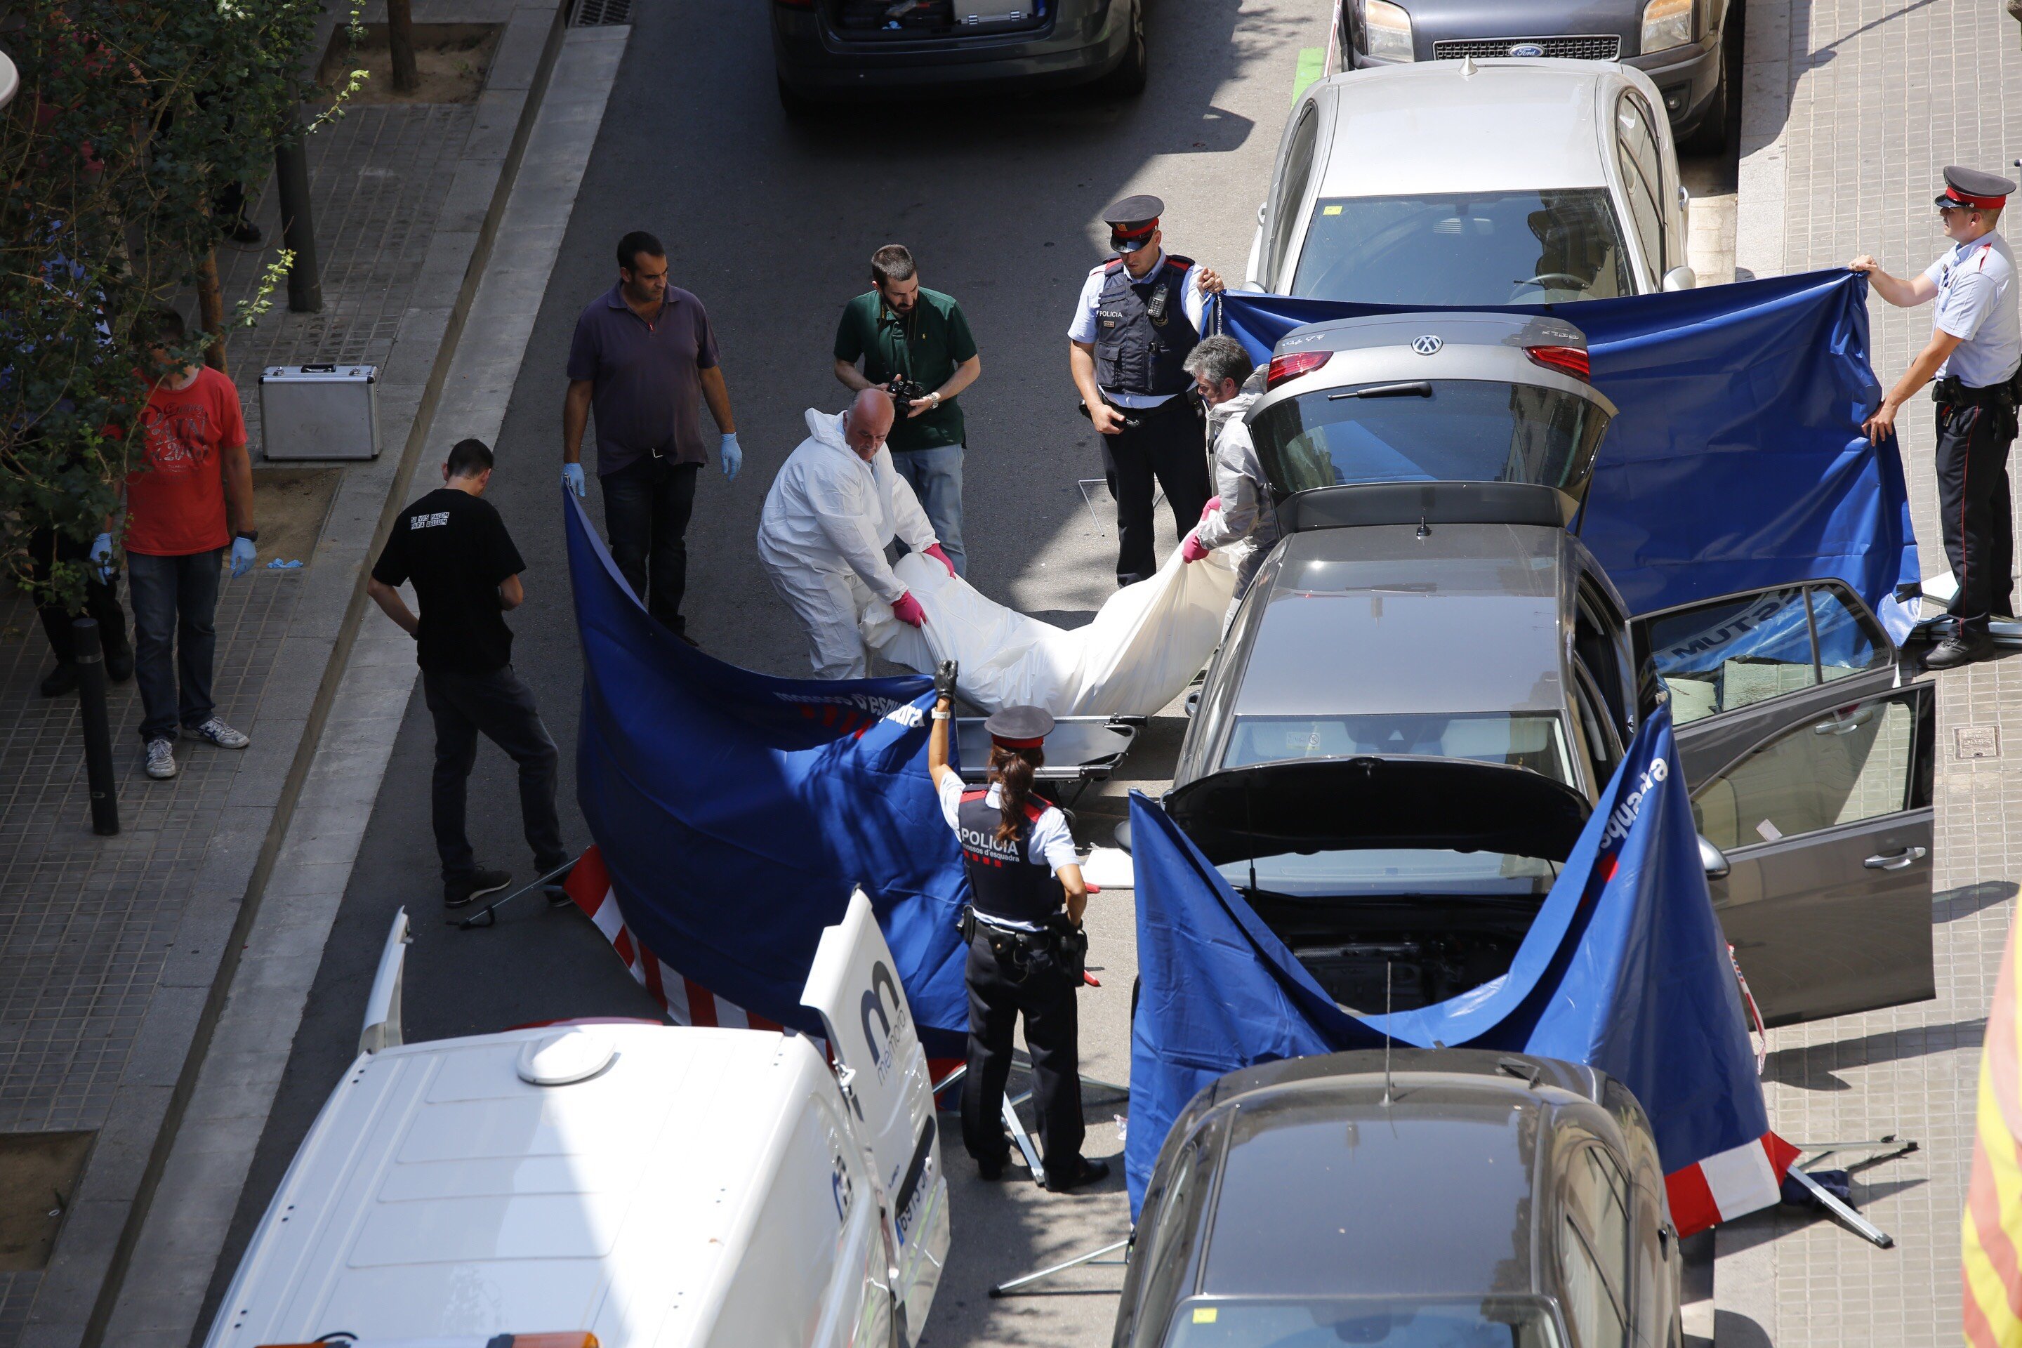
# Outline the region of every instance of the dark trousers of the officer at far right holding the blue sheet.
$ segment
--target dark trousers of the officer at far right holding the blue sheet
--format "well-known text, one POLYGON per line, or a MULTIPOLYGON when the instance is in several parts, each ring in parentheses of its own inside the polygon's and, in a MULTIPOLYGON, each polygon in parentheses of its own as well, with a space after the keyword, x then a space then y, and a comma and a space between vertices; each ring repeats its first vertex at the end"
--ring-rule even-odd
POLYGON ((2014 519, 2008 449, 2012 406, 1996 398, 1937 404, 1937 517, 1945 534, 1951 614, 1961 629, 1986 631, 1990 614, 2014 612, 2014 519))

